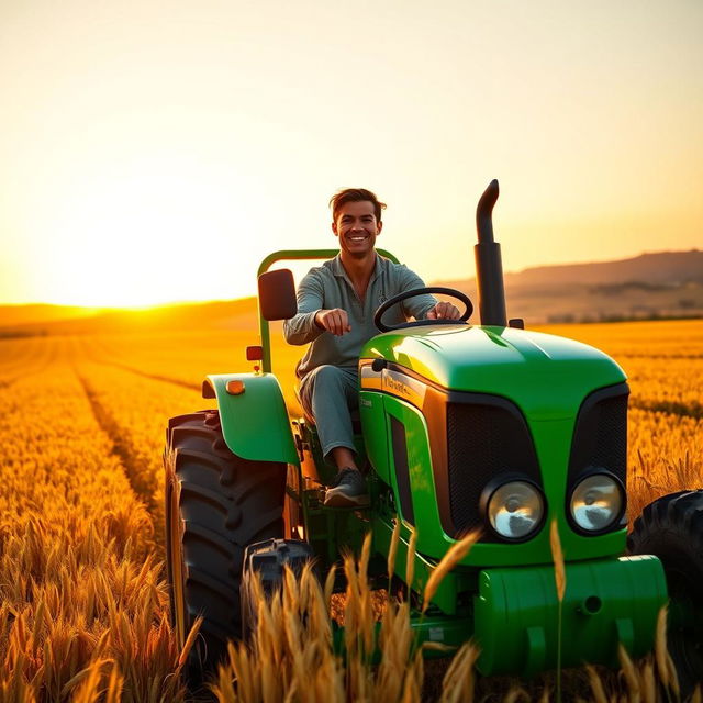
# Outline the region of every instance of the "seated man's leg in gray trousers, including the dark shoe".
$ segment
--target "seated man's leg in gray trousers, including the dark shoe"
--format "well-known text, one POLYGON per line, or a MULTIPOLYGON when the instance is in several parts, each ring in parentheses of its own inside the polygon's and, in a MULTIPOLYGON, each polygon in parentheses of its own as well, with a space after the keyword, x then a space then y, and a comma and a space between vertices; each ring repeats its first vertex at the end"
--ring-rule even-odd
POLYGON ((320 366, 300 382, 300 400, 315 419, 325 457, 339 470, 327 491, 325 505, 368 503, 366 483, 356 465, 352 410, 358 408, 358 375, 355 368, 320 366))

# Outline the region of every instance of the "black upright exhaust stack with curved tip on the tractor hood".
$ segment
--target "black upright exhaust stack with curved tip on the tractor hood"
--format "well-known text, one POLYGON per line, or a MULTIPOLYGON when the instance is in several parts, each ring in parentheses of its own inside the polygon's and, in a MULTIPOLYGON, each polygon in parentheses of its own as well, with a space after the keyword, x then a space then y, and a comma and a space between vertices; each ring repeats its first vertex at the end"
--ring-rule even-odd
POLYGON ((505 327, 505 290, 501 245, 493 239, 493 205, 499 196, 498 180, 493 179, 483 191, 476 209, 476 228, 479 243, 476 254, 476 281, 479 291, 479 311, 482 325, 505 327))

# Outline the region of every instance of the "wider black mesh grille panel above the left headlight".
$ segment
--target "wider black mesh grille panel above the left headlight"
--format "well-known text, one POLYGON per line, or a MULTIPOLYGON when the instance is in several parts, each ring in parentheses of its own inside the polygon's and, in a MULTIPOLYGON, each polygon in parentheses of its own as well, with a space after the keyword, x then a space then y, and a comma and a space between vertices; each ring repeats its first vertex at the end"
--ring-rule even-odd
MULTIPOLYGON (((483 524, 478 507, 487 483, 510 475, 542 483, 535 447, 520 410, 502 398, 470 395, 469 402, 447 405, 451 536, 483 524)), ((446 525, 447 521, 443 522, 446 525)), ((482 538, 491 540, 489 535, 482 538)))

